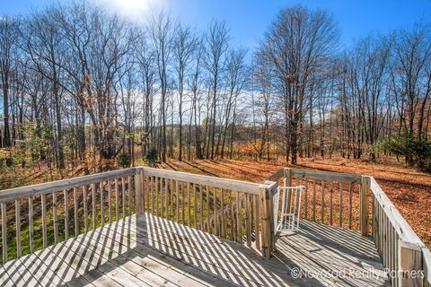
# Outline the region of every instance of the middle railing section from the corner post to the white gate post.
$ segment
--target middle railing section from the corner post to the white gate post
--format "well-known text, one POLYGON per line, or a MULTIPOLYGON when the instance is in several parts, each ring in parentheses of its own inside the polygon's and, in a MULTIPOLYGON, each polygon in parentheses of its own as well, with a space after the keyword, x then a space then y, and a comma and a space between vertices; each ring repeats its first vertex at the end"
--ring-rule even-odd
POLYGON ((255 184, 151 168, 140 169, 139 212, 246 243, 269 257, 274 248, 272 198, 277 184, 255 184))

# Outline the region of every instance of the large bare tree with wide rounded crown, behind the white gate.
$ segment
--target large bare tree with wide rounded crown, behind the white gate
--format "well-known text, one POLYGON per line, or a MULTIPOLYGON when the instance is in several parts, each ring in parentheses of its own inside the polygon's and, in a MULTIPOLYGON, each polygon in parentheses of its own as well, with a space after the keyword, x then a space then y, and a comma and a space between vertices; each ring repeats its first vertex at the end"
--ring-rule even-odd
POLYGON ((275 67, 277 89, 283 95, 286 116, 286 161, 296 163, 298 126, 310 75, 330 57, 339 39, 329 13, 302 6, 282 10, 265 34, 264 53, 275 67))

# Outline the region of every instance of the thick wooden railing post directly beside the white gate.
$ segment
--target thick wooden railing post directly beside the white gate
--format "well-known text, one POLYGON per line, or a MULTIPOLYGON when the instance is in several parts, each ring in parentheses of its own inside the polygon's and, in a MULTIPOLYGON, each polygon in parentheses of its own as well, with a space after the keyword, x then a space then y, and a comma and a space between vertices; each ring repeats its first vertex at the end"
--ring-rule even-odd
POLYGON ((274 205, 273 198, 277 182, 271 182, 269 185, 261 185, 259 187, 260 200, 260 224, 261 229, 261 252, 262 257, 269 258, 271 251, 275 246, 275 227, 274 227, 274 205))

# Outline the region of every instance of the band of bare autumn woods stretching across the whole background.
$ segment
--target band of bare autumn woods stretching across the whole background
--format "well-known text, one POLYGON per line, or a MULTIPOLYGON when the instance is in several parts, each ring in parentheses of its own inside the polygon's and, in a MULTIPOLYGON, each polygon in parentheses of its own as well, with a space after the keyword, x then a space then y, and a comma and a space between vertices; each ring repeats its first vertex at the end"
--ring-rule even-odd
POLYGON ((0 17, 0 170, 333 156, 429 170, 430 24, 349 47, 339 28, 287 7, 251 48, 227 22, 136 24, 86 2, 0 17))

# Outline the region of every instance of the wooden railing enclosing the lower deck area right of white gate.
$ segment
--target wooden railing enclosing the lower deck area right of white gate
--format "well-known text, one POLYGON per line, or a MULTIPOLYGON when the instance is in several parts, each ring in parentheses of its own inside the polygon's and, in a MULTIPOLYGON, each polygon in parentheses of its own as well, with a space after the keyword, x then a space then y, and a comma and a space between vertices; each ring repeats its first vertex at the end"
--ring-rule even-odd
POLYGON ((430 286, 429 249, 373 177, 286 168, 268 179, 305 187, 303 219, 372 236, 392 286, 430 286))

